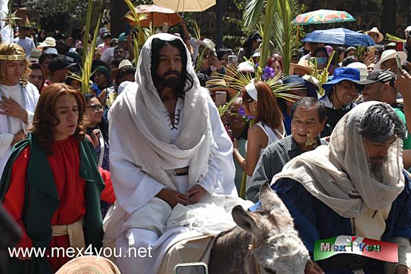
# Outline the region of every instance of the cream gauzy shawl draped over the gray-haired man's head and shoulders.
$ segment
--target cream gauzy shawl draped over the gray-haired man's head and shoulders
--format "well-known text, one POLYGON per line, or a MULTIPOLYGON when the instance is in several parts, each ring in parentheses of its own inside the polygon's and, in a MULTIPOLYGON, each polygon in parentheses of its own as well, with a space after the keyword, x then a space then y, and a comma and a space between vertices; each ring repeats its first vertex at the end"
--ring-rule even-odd
POLYGON ((376 179, 360 134, 362 117, 375 104, 379 102, 369 101, 353 108, 337 123, 329 146, 292 159, 273 177, 272 183, 282 177, 295 179, 345 218, 361 216, 368 209, 390 207, 405 185, 402 140, 397 138, 391 145, 376 179))

